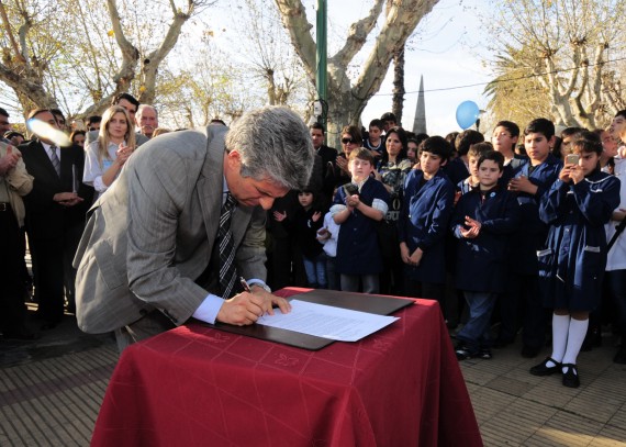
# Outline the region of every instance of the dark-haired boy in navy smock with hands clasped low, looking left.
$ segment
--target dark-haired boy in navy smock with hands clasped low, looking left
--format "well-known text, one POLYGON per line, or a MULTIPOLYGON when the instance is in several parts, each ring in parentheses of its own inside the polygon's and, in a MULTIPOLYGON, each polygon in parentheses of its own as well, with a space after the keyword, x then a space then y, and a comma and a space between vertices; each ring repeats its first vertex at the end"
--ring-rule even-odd
POLYGON ((406 177, 398 221, 400 255, 404 262, 404 292, 439 301, 443 310, 446 281, 445 236, 449 227, 455 187, 441 170, 451 147, 432 136, 420 148, 421 170, 406 177))

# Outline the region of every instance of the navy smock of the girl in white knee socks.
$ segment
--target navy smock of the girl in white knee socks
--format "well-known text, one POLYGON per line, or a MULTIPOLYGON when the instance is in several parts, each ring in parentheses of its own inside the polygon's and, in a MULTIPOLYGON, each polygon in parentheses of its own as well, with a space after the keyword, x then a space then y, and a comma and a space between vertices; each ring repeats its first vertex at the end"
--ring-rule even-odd
POLYGON ((539 214, 550 225, 538 250, 544 303, 591 311, 600 303, 606 266, 604 224, 619 205, 619 179, 596 170, 578 185, 555 181, 539 214))

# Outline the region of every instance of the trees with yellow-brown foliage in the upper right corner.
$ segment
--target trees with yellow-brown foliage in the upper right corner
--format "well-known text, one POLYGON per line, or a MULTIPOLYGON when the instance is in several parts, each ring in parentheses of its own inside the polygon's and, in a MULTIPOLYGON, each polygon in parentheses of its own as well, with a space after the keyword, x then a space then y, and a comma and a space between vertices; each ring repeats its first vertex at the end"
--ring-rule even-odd
POLYGON ((493 114, 593 128, 623 107, 623 0, 495 0, 492 10, 493 114))

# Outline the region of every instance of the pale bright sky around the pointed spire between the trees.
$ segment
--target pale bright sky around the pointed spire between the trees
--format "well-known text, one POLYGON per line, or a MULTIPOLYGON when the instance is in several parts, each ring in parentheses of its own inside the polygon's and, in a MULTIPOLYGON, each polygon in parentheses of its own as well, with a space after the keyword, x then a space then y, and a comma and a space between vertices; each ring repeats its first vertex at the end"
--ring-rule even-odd
MULTIPOLYGON (((364 0, 329 0, 329 21, 342 23, 347 18, 367 13, 364 0)), ((416 30, 406 52, 405 101, 402 124, 412 130, 420 89, 424 76, 426 130, 431 135, 446 135, 460 131, 456 121, 457 107, 470 100, 485 109, 488 99, 482 96, 484 86, 492 79, 479 55, 487 57, 481 42, 487 38, 481 31, 479 14, 487 9, 484 0, 440 0, 416 30), (467 88, 456 88, 470 85, 467 88)), ((354 18, 354 19, 353 19, 354 18)), ((331 34, 328 34, 331 38, 331 34)), ((387 111, 391 111, 393 70, 368 103, 362 122, 367 124, 387 111)))

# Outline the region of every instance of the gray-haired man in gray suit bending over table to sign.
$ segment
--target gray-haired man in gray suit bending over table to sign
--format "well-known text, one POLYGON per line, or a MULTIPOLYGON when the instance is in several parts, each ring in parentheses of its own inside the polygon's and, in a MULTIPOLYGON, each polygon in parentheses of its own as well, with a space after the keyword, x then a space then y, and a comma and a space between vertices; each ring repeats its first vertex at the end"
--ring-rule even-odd
POLYGON ((289 312, 265 283, 266 210, 306 186, 313 156, 306 125, 278 107, 135 150, 89 213, 75 259, 79 327, 115 331, 123 349, 191 316, 247 325, 273 304, 289 312), (227 193, 238 203, 235 264, 251 290, 220 297, 214 242, 227 193))

